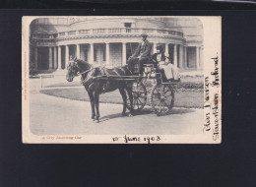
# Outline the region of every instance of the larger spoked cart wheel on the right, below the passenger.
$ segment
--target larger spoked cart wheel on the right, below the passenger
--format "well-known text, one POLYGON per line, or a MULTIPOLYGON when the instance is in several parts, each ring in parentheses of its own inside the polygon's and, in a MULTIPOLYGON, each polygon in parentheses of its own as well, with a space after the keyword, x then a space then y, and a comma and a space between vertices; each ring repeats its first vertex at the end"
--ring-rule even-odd
POLYGON ((155 113, 169 114, 174 104, 174 90, 170 85, 156 85, 151 92, 151 105, 155 113))

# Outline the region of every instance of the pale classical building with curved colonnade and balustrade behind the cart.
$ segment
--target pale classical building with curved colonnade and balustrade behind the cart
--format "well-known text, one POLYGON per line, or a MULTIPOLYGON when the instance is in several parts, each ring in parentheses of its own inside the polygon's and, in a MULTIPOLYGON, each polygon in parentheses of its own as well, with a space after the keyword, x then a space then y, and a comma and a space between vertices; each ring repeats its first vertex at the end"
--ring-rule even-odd
POLYGON ((152 53, 161 44, 181 70, 202 70, 203 26, 186 17, 38 18, 31 24, 30 63, 38 71, 65 69, 77 56, 95 65, 122 66, 143 32, 152 53))

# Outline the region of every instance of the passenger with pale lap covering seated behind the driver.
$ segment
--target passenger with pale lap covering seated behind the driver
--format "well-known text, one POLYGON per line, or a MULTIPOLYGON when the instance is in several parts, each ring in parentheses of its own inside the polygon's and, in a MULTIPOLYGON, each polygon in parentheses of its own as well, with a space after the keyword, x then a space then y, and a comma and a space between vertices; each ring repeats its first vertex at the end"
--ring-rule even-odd
POLYGON ((157 53, 152 56, 154 63, 159 64, 160 70, 164 71, 167 80, 179 81, 180 75, 177 68, 169 63, 169 59, 163 53, 163 47, 157 46, 157 53))

